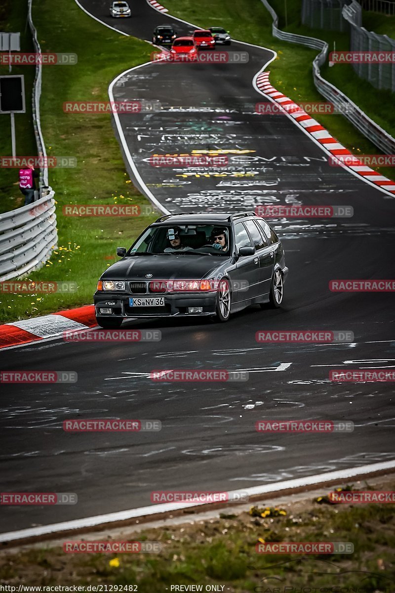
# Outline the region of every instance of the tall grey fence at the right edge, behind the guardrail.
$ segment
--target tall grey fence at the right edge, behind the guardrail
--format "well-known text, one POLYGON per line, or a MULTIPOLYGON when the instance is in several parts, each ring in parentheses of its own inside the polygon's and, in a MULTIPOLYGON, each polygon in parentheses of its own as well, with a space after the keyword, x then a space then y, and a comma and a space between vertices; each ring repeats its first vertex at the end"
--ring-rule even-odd
MULTIPOLYGON (((350 25, 350 49, 354 52, 395 52, 395 40, 387 35, 378 35, 361 27, 361 6, 353 0, 343 8, 343 17, 350 25)), ((395 53, 394 53, 395 55, 395 53)), ((393 55, 393 56, 394 56, 393 55)), ((381 56, 384 56, 381 53, 381 56)), ((372 55, 367 58, 372 60, 372 55)), ((380 58, 380 54, 377 55, 380 58)), ((353 63, 352 67, 359 78, 368 80, 375 88, 388 88, 395 91, 395 62, 372 60, 366 63, 353 63)))

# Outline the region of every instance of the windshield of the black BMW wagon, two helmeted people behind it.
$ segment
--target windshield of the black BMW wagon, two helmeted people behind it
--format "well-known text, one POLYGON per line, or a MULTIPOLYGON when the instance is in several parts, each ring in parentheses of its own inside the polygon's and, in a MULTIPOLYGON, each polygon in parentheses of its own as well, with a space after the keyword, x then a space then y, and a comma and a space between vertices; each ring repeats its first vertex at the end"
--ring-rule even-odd
POLYGON ((127 255, 162 253, 229 256, 229 227, 213 224, 149 227, 131 246, 127 255))

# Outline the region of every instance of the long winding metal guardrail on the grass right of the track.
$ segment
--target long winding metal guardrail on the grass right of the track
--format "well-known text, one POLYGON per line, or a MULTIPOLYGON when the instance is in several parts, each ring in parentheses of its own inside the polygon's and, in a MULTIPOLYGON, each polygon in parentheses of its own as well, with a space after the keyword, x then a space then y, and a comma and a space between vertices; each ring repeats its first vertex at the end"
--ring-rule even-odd
MULTIPOLYGON (((265 8, 268 9, 272 16, 272 35, 289 43, 297 43, 311 49, 320 49, 320 53, 313 60, 313 79, 317 91, 323 95, 328 101, 332 103, 342 103, 343 116, 354 125, 359 132, 368 138, 375 146, 380 148, 386 154, 395 154, 395 139, 383 130, 377 123, 370 119, 362 109, 351 101, 342 91, 330 84, 325 78, 321 76, 320 66, 323 65, 327 59, 328 44, 322 39, 315 37, 306 37, 304 35, 297 35, 294 33, 287 33, 278 28, 278 16, 267 0, 261 0, 265 8), (345 104, 345 105, 344 105, 345 104)), ((355 0, 354 0, 355 1, 355 0)))

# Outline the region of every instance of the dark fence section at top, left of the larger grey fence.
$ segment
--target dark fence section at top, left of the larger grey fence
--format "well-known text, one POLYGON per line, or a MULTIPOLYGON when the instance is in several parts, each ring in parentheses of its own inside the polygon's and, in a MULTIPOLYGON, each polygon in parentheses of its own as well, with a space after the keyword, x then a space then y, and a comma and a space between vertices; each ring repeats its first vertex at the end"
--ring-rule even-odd
POLYGON ((307 27, 330 31, 348 31, 343 7, 349 0, 303 0, 301 21, 307 27))

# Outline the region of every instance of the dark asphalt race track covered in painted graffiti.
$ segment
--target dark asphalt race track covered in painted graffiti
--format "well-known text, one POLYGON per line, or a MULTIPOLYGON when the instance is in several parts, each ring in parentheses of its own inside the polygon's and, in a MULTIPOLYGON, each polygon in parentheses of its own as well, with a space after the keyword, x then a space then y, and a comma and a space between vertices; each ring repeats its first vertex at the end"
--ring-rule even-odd
MULTIPOLYGON (((133 2, 133 18, 113 20, 107 4, 82 2, 104 23, 146 40, 156 25, 172 20, 145 0, 133 2)), ((175 27, 192 30, 179 21, 175 27)), ((256 114, 255 104, 267 100, 252 79, 273 54, 236 42, 230 49, 248 52, 248 63, 150 63, 115 82, 115 100, 162 106, 155 114, 120 116, 146 187, 171 212, 235 212, 278 203, 351 205, 354 216, 272 222, 290 269, 280 310, 251 307, 226 324, 124 323, 159 329, 159 343, 59 339, 0 352, 2 370, 78 373, 76 384, 2 387, 3 490, 78 494, 77 505, 8 506, 2 532, 147 506, 152 490, 242 490, 395 458, 393 385, 329 380, 330 369, 395 366, 393 295, 328 288, 330 279, 393 278, 394 198, 330 167, 325 152, 288 117, 256 114), (152 154, 192 150, 230 151, 229 166, 220 170, 226 175, 156 168, 148 161, 152 154), (355 337, 320 345, 255 339, 258 330, 296 329, 349 330, 355 337), (195 368, 248 371, 249 380, 149 378, 153 369, 195 368), (63 431, 63 420, 80 417, 159 419, 162 430, 63 431), (262 419, 352 420, 355 431, 264 434, 255 431, 262 419)))

